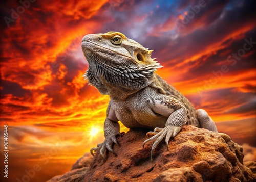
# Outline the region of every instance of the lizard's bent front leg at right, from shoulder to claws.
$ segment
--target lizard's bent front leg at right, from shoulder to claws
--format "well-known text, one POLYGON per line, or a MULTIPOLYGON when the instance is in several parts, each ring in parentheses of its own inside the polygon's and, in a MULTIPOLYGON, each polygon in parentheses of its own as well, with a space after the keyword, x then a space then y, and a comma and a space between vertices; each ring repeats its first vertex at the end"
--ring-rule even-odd
POLYGON ((148 132, 146 134, 146 137, 148 135, 154 136, 145 140, 142 144, 142 147, 144 147, 145 143, 147 143, 148 141, 156 139, 151 149, 151 160, 157 145, 163 140, 164 137, 167 150, 169 150, 168 143, 170 137, 175 137, 178 134, 178 132, 185 125, 187 117, 185 107, 182 105, 182 103, 180 103, 177 99, 173 97, 168 97, 164 99, 161 98, 157 101, 154 101, 152 110, 158 114, 168 117, 168 119, 164 128, 156 127, 154 129, 154 132, 148 132))

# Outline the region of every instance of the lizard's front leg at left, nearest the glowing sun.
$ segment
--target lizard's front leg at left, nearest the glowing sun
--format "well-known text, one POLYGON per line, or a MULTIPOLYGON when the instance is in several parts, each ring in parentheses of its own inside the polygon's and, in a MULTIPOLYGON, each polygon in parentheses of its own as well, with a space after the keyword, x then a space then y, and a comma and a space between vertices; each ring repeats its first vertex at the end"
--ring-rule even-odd
POLYGON ((105 140, 102 143, 99 143, 97 147, 91 148, 90 152, 92 155, 93 151, 100 152, 100 155, 105 159, 104 152, 106 150, 109 150, 110 152, 114 153, 116 155, 116 152, 112 149, 113 143, 118 144, 116 137, 120 134, 120 125, 118 123, 118 119, 116 118, 114 110, 111 109, 111 106, 109 105, 108 111, 107 111, 107 118, 104 122, 104 136, 105 140))

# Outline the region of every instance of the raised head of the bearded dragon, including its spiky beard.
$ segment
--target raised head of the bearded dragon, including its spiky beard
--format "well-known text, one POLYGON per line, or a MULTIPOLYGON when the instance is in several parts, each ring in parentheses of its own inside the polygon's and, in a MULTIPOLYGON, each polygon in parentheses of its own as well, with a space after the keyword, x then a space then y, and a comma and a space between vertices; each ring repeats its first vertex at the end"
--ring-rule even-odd
POLYGON ((113 87, 140 90, 151 84, 154 71, 162 67, 151 58, 153 50, 119 32, 88 34, 81 46, 89 64, 84 77, 102 94, 110 94, 113 87))

